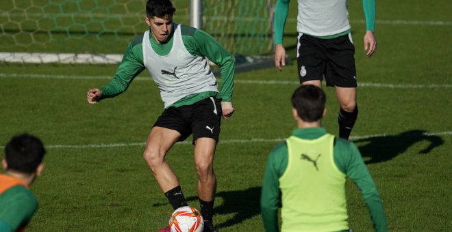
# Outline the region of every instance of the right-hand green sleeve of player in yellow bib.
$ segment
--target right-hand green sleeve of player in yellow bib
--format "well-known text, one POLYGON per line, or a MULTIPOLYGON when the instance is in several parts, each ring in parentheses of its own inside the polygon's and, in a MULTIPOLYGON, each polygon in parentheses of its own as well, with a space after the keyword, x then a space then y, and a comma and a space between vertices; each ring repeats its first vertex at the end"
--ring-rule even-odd
POLYGON ((388 231, 388 223, 384 213, 383 203, 377 190, 377 186, 369 173, 366 164, 357 147, 343 139, 336 139, 334 146, 334 162, 349 177, 360 190, 362 198, 366 202, 371 213, 375 231, 388 231))

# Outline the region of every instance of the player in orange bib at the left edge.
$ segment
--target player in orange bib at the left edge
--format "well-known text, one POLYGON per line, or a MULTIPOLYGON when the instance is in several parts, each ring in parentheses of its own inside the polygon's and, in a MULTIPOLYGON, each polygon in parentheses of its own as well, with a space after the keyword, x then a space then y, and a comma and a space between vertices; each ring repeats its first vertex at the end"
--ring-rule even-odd
POLYGON ((18 134, 5 145, 0 174, 0 231, 22 231, 38 209, 38 200, 29 190, 42 173, 45 148, 31 134, 18 134))

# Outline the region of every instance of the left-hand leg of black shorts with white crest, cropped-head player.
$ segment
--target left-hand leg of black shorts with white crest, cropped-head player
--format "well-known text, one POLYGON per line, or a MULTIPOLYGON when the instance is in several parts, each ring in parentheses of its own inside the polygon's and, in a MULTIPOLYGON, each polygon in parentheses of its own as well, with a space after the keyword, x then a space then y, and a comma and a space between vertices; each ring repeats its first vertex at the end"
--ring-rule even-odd
POLYGON ((299 33, 297 68, 300 83, 322 80, 325 72, 325 55, 320 39, 299 33))

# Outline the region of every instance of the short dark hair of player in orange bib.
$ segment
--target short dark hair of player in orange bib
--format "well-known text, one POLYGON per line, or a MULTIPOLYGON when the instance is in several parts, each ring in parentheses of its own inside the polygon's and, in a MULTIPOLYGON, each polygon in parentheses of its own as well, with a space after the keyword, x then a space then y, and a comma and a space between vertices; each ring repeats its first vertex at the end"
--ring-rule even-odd
POLYGON ((8 169, 31 174, 36 171, 46 153, 42 141, 31 134, 18 134, 5 146, 8 169))

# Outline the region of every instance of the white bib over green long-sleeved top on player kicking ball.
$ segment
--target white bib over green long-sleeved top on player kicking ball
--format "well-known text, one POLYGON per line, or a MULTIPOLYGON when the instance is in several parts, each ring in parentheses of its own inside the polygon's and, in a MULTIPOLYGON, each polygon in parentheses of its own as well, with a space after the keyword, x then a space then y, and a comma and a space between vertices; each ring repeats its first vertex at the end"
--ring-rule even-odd
POLYGON ((101 99, 123 93, 145 69, 160 89, 164 107, 190 105, 208 97, 232 100, 234 57, 211 35, 193 27, 173 23, 168 40, 153 40, 150 31, 138 35, 127 47, 110 83, 101 87, 101 99), (221 91, 207 59, 221 72, 221 91))

